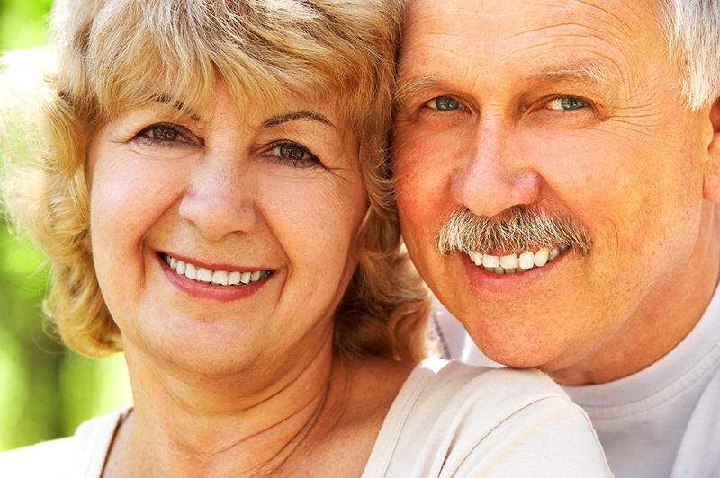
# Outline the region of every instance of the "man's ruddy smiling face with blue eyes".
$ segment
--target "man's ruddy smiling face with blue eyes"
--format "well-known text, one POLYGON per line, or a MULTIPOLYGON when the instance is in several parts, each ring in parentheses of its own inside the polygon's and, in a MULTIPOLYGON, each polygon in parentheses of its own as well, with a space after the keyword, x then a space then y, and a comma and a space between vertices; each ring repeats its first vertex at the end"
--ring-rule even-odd
POLYGON ((684 107, 648 4, 411 4, 393 134, 402 233, 491 359, 565 383, 627 375, 676 345, 715 287, 710 108, 684 107), (458 212, 497 226, 527 211, 575 235, 438 251, 458 212))

